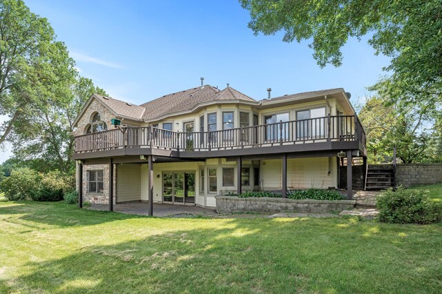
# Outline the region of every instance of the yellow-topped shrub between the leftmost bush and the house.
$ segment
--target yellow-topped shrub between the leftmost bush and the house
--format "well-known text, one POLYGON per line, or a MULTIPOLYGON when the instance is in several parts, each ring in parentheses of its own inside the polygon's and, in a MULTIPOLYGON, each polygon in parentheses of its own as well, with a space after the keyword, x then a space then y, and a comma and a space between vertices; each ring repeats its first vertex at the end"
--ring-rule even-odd
POLYGON ((52 171, 41 177, 41 183, 37 189, 32 190, 31 198, 34 201, 60 201, 69 190, 69 178, 58 171, 52 171))

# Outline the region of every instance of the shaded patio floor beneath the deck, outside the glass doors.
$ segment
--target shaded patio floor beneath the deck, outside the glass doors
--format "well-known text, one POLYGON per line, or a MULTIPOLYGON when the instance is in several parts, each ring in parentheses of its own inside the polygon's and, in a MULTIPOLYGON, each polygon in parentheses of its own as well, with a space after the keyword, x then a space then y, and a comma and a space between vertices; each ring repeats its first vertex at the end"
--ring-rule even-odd
MULTIPOLYGON (((89 207, 93 210, 108 210, 107 204, 94 204, 89 207)), ((119 213, 127 213, 130 215, 148 215, 148 203, 146 202, 131 202, 115 204, 114 211, 119 213)), ((215 208, 202 208, 200 206, 187 206, 179 204, 153 204, 153 216, 155 217, 168 217, 173 215, 202 215, 202 216, 214 216, 217 215, 215 208)))

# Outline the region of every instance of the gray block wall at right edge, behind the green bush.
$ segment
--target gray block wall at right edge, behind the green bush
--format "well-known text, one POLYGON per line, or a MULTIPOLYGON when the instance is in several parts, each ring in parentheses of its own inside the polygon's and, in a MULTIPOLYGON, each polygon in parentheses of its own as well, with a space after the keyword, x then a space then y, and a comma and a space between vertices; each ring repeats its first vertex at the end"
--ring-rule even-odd
POLYGON ((442 183, 442 164, 398 164, 396 181, 404 187, 442 183))

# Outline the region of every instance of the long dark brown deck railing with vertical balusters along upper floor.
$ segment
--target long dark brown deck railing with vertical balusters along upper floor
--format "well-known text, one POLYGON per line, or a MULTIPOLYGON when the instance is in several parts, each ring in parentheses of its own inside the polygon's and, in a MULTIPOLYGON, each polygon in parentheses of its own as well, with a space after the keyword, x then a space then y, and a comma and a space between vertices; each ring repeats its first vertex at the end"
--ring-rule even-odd
POLYGON ((328 115, 211 132, 180 133, 153 126, 122 127, 75 137, 75 153, 118 148, 228 150, 320 141, 361 141, 365 146, 365 131, 356 115, 328 115))

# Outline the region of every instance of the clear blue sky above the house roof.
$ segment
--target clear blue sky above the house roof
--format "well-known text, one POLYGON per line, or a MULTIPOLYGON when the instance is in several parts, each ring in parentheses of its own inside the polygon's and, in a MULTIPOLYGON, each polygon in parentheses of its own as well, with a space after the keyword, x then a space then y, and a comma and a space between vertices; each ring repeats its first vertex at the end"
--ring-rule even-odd
MULTIPOLYGON (((343 87, 352 100, 367 95, 383 75, 386 57, 350 40, 343 66, 321 69, 308 41, 282 42, 282 33, 254 36, 249 13, 236 0, 25 0, 66 43, 81 75, 111 97, 142 104, 206 84, 233 88, 254 99, 343 87)), ((8 149, 8 147, 6 147, 8 149)), ((0 161, 10 150, 0 153, 0 161)))

